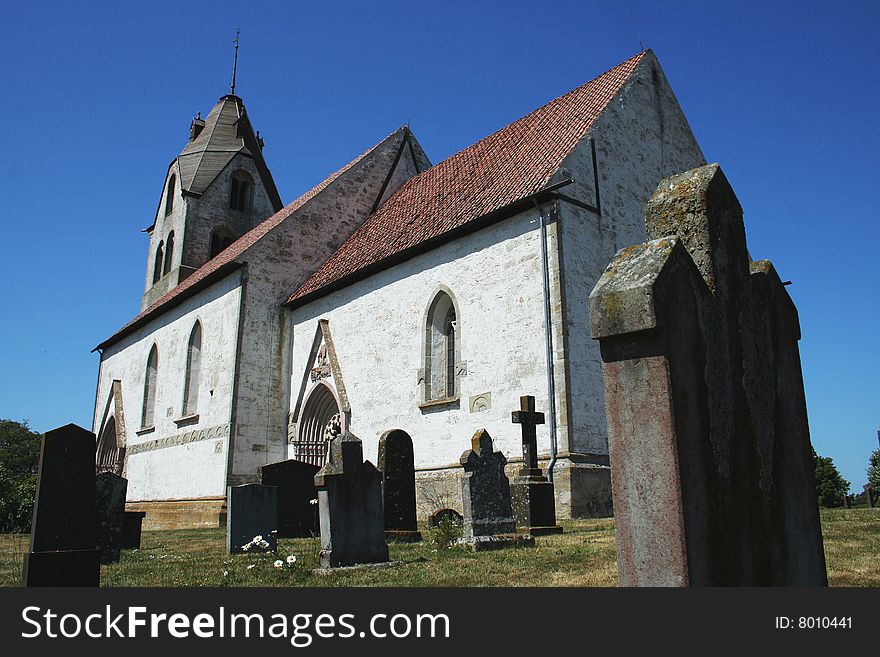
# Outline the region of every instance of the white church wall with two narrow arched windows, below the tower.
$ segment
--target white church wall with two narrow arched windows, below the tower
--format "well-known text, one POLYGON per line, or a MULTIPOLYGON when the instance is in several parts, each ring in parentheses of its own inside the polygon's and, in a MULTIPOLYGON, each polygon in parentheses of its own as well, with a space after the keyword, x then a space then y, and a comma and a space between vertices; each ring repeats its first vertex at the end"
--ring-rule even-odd
POLYGON ((225 494, 240 291, 234 272, 104 351, 93 430, 100 432, 113 380, 121 380, 129 501, 225 494), (198 419, 176 423, 183 415, 187 347, 196 320, 202 324, 198 419), (144 379, 154 344, 155 429, 143 432, 144 379))

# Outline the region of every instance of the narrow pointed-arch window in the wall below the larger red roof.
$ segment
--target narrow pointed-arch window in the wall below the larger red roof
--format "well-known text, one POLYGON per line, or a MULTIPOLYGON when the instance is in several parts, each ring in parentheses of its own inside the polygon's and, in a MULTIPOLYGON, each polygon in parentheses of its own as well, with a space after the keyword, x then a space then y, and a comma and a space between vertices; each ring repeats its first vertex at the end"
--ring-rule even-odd
POLYGON ((438 292, 428 308, 425 324, 425 400, 458 394, 458 317, 455 303, 438 292))

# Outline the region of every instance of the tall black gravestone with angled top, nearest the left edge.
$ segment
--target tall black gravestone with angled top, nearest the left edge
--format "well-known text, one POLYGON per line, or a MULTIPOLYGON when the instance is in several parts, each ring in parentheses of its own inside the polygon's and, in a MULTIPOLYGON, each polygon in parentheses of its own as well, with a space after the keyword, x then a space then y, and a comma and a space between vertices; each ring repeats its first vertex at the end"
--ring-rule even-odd
POLYGON ((40 437, 25 586, 100 584, 94 477, 95 434, 68 424, 40 437))

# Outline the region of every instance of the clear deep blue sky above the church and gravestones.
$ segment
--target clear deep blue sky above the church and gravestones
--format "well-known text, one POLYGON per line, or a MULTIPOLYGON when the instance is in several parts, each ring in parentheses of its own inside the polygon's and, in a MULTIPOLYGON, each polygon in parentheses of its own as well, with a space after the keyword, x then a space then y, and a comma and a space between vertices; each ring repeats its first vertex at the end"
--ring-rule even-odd
POLYGON ((880 425, 880 3, 11 3, 0 54, 0 417, 91 425, 90 350, 138 311, 190 119, 237 91, 296 198, 410 122, 439 162, 632 56, 660 59, 801 318, 813 443, 856 490, 880 425))

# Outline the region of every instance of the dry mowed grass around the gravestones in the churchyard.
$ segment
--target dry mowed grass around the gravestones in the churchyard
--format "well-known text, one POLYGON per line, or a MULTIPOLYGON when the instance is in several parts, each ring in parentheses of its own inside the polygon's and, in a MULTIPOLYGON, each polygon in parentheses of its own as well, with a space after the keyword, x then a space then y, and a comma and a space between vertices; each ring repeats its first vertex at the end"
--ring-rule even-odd
MULTIPOLYGON (((140 550, 103 566, 103 586, 615 586, 614 522, 568 520, 534 548, 474 553, 438 548, 433 535, 390 545, 394 565, 314 573, 319 542, 281 539, 275 555, 225 553, 222 529, 144 532, 140 550), (292 567, 276 559, 296 556, 292 567)), ((880 510, 822 511, 831 586, 880 586, 880 510)), ((27 536, 0 536, 0 585, 19 586, 27 536)))

